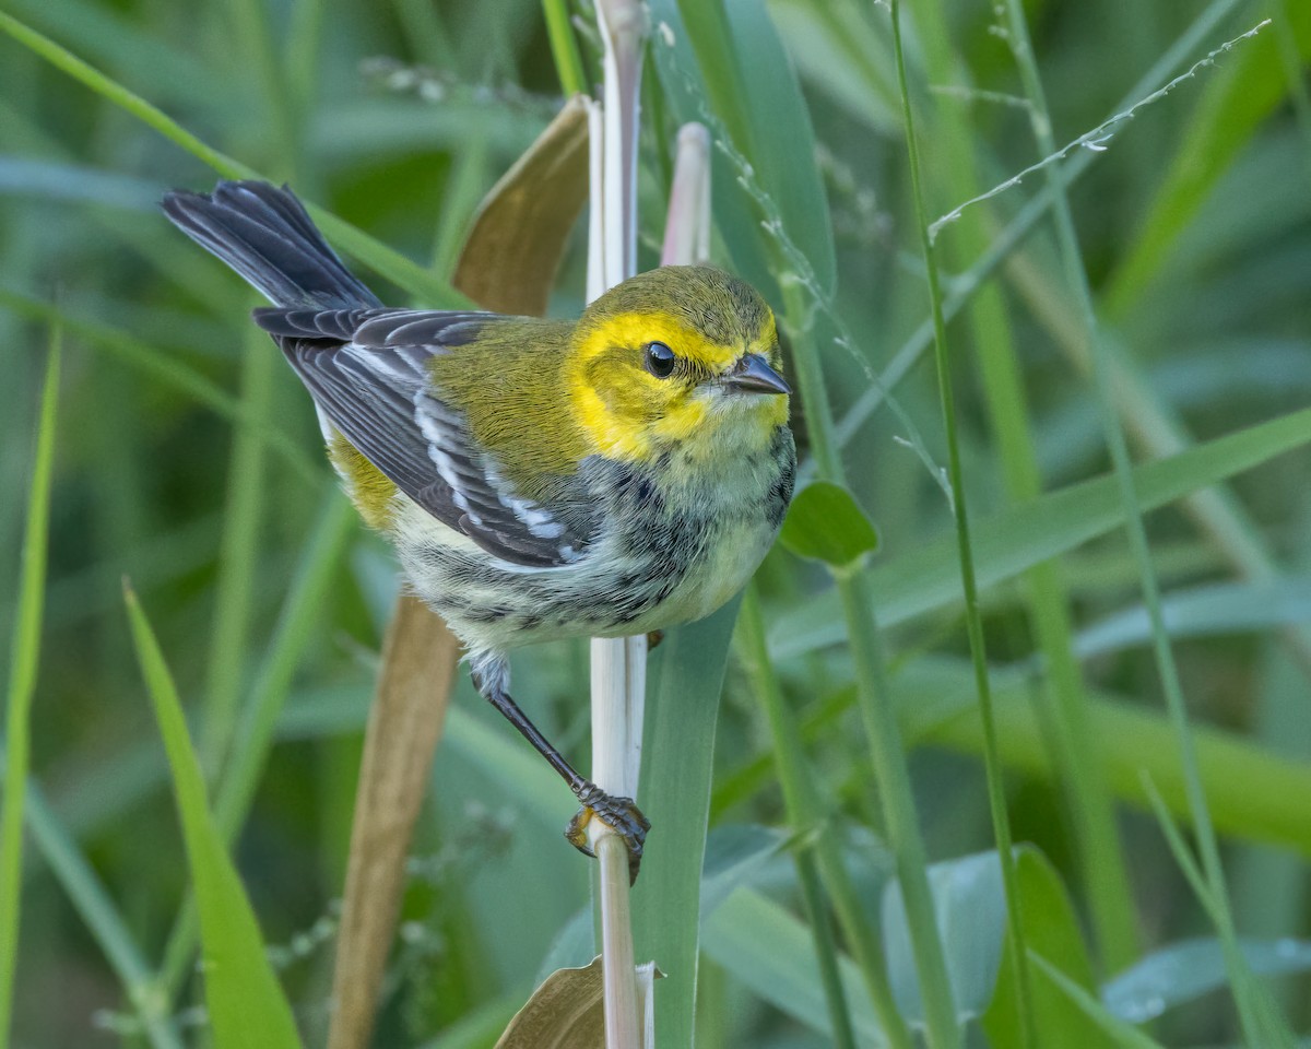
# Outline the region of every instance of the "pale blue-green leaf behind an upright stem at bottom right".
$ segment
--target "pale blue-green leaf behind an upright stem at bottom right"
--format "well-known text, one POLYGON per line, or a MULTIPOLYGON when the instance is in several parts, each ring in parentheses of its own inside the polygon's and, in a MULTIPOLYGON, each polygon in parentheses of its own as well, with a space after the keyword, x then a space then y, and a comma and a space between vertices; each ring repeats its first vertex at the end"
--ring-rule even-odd
MULTIPOLYGON (((1002 892, 1002 865, 998 855, 981 852, 928 868, 928 888, 947 957, 948 980, 957 1019, 966 1021, 983 1014, 992 1000, 1002 944, 1006 939, 1006 896, 1002 892)), ((919 977, 911 947, 910 924, 901 882, 895 879, 884 889, 884 951, 888 976, 902 1016, 911 1027, 924 1027, 919 977)))

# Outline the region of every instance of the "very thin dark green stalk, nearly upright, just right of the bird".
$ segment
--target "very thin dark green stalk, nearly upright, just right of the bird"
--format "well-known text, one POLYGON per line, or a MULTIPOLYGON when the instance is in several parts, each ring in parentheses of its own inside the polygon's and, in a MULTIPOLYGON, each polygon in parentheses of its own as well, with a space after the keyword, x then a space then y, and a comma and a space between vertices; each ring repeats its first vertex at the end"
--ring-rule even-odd
POLYGON ((965 504, 965 481, 961 469, 960 438, 956 433, 956 399, 952 391, 950 358, 947 350, 947 323, 943 319, 943 292, 939 285, 937 258, 928 235, 928 212, 924 206, 924 186, 920 177, 919 144, 915 139, 915 115, 910 102, 906 79, 906 58, 902 51, 901 3, 891 0, 893 54, 897 58, 897 80, 901 87, 902 119, 906 123, 906 151, 910 160, 911 191, 915 198, 916 227, 924 265, 928 271, 928 296, 933 313, 933 346, 937 361, 937 391, 947 437, 947 471, 952 486, 952 511, 956 517, 956 536, 961 560, 961 584, 965 590, 965 627, 969 635, 970 661, 974 665, 974 687, 978 694, 979 721, 983 728, 983 767, 987 776, 988 808, 992 813, 992 833, 996 838, 998 859, 1002 868, 1002 886, 1006 893, 1006 918, 1015 965, 1016 1012, 1020 1023, 1020 1044, 1034 1044, 1033 993, 1029 982, 1029 956, 1024 944, 1024 915, 1020 910, 1020 890, 1012 851, 1011 820, 1006 808, 1006 785, 998 758, 996 724, 992 717, 992 688, 988 681, 987 649, 983 641, 983 619, 979 615, 978 580, 974 574, 974 549, 970 543, 969 507, 965 504))

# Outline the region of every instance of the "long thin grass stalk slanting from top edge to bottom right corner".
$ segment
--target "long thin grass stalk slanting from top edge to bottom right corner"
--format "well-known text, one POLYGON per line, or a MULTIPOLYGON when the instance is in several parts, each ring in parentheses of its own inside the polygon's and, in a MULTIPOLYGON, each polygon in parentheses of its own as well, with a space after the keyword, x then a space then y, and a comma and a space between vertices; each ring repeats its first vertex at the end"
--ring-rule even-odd
MULTIPOLYGON (((895 5, 894 0, 894 5, 895 5)), ((1033 135, 1042 156, 1054 152, 1055 144, 1051 135, 1051 121, 1046 105, 1046 93, 1042 88, 1042 79, 1038 73, 1033 56, 1033 47, 1029 41, 1028 22, 1020 0, 1007 0, 1008 30, 1011 49, 1015 52, 1019 66, 1020 79, 1024 84, 1025 96, 1030 105, 1030 123, 1033 135)), ((1138 494, 1133 479, 1133 462, 1129 455, 1129 442, 1120 417, 1114 410, 1114 386, 1108 357, 1104 350, 1101 325, 1097 320, 1093 304, 1092 288, 1088 285, 1087 273, 1083 269, 1079 252, 1079 237, 1074 226, 1074 216, 1070 210, 1070 201, 1063 191, 1059 178, 1047 169, 1047 178, 1057 198, 1053 207, 1053 220, 1055 224, 1057 244, 1062 265, 1066 270, 1066 279, 1071 292, 1079 304, 1080 319, 1084 325, 1084 340, 1092 358, 1093 379, 1097 389, 1097 399, 1103 410, 1103 422, 1106 430, 1106 442, 1110 447, 1110 458, 1116 476, 1120 479, 1121 497, 1125 504, 1125 523, 1129 531, 1130 547, 1138 564, 1138 574, 1142 581, 1143 603, 1152 627, 1152 649, 1156 658, 1156 669, 1165 692, 1165 705, 1171 725, 1179 746, 1180 763, 1184 770, 1184 785, 1188 795, 1189 814, 1193 821, 1193 830, 1197 835, 1201 865, 1206 876, 1207 889, 1214 901, 1213 919, 1223 947, 1224 966, 1228 973, 1230 985, 1234 991, 1238 1007, 1239 1023, 1244 1040, 1249 1045, 1270 1045, 1273 1035, 1277 1044, 1291 1044, 1291 1039, 1283 1032, 1270 1031, 1262 1023, 1260 1008, 1251 989, 1252 974, 1243 959, 1238 945, 1238 936, 1234 928, 1234 918, 1228 909, 1228 889, 1226 886, 1224 867, 1221 861, 1219 844, 1215 837, 1215 827, 1211 823, 1210 810, 1206 804, 1206 793, 1202 787, 1201 772, 1197 764, 1197 750, 1192 732, 1188 725, 1188 711, 1184 702, 1183 686, 1179 681, 1179 666, 1175 662, 1173 648, 1160 610, 1160 586, 1156 580, 1156 570, 1151 560, 1151 548, 1147 543, 1147 531, 1143 526, 1142 507, 1138 504, 1138 494), (1055 181, 1051 181, 1055 180, 1055 181)))

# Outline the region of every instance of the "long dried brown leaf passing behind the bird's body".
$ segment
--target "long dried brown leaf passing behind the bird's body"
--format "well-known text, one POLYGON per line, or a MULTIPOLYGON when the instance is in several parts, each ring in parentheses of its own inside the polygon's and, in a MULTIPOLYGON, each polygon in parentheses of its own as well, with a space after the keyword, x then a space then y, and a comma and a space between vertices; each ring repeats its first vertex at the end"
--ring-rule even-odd
MULTIPOLYGON (((570 100, 488 194, 454 283, 486 309, 543 313, 587 194, 587 121, 570 100)), ((413 597, 396 604, 355 795, 328 1049, 364 1049, 396 936, 405 859, 442 736, 459 645, 413 597)))

